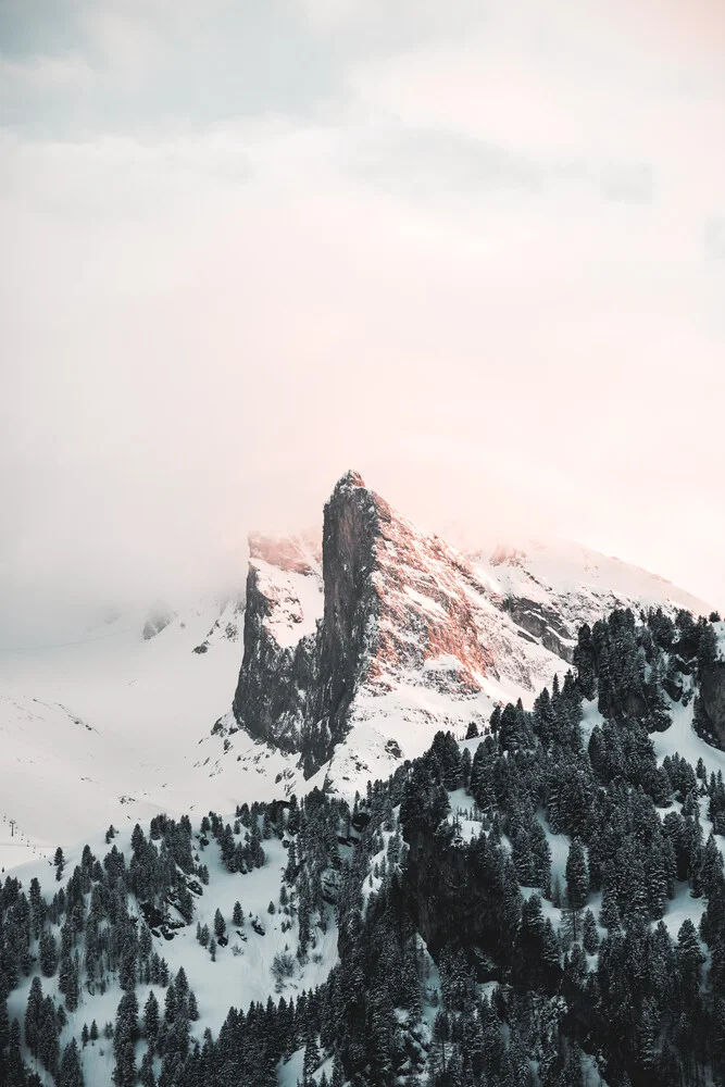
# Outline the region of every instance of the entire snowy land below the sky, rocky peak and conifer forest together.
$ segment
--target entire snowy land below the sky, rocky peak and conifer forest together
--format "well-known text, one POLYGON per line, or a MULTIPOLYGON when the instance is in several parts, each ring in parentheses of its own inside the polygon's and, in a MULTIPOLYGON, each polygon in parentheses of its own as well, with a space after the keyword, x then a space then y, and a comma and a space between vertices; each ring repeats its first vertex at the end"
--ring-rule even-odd
POLYGON ((354 472, 0 653, 0 1085, 725 1083, 725 623, 354 472))

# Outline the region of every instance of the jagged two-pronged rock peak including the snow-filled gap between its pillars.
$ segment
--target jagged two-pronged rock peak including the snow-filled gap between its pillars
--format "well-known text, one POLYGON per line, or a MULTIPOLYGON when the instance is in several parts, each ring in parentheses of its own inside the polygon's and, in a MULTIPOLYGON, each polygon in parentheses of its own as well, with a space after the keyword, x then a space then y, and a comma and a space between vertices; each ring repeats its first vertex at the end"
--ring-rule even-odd
MULTIPOLYGON (((417 530, 355 473, 325 507, 322 578, 309 545, 254 537, 250 546, 234 717, 250 735, 299 751, 307 775, 371 716, 395 715, 411 728, 427 723, 427 730, 464 727, 485 715, 474 703, 486 691, 490 712, 502 675, 533 688, 532 666, 538 678, 546 664, 522 658, 513 625, 501 629, 470 562, 417 530), (314 626, 311 616, 320 617, 314 626), (446 705, 432 708, 426 691, 446 705)), ((387 747, 396 749, 402 754, 404 745, 387 747)))

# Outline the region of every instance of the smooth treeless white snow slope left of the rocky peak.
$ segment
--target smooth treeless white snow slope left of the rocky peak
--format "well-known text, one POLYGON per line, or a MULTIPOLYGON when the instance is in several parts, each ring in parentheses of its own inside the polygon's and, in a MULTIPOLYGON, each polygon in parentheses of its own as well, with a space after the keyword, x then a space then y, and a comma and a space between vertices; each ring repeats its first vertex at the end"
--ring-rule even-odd
POLYGON ((111 822, 240 799, 239 780, 195 765, 239 669, 238 605, 209 602, 150 640, 142 627, 121 616, 74 645, 0 653, 0 866, 111 822))

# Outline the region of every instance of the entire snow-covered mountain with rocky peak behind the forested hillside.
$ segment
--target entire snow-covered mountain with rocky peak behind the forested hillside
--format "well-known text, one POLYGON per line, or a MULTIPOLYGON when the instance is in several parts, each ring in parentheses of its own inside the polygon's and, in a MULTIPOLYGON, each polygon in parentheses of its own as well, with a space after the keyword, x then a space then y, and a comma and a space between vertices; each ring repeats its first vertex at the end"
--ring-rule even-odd
POLYGON ((439 728, 530 705, 617 604, 710 611, 576 545, 463 554, 348 473, 322 534, 250 539, 246 608, 159 604, 0 653, 0 864, 162 810, 363 791, 439 728))

